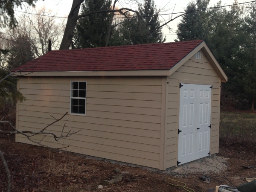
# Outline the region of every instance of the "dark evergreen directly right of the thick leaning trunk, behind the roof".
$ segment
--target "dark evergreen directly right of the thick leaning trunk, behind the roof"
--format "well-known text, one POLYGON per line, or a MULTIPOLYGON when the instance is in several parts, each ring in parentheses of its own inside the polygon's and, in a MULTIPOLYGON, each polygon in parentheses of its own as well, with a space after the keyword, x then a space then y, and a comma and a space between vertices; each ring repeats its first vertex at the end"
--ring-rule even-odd
MULTIPOLYGON (((111 9, 111 0, 85 0, 81 14, 105 9, 111 9)), ((110 18, 109 13, 98 13, 78 20, 73 48, 105 47, 110 18)))

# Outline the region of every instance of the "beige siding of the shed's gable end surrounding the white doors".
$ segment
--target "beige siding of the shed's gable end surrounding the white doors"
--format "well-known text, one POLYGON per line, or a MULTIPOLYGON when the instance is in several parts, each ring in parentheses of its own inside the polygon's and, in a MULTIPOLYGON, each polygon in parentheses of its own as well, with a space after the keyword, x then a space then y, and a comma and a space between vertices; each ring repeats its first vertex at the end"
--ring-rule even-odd
POLYGON ((166 166, 165 169, 177 165, 177 145, 178 145, 178 114, 179 114, 179 84, 211 84, 212 89, 212 113, 211 113, 211 154, 218 153, 219 137, 219 115, 220 115, 220 78, 212 65, 203 54, 203 63, 198 63, 190 58, 171 76, 167 76, 168 97, 167 97, 167 135, 166 135, 166 166))

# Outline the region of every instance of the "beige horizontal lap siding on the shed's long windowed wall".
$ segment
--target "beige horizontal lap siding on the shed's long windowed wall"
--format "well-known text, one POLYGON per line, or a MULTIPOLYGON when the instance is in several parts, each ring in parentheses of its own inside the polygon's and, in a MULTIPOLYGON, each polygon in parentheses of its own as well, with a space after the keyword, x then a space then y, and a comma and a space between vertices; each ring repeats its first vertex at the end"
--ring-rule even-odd
MULTIPOLYGON (((55 78, 21 77, 19 130, 47 128, 56 134, 79 131, 52 147, 86 155, 159 168, 162 78, 55 78), (87 81, 86 116, 70 115, 70 81, 87 81), (79 150, 77 150, 79 148, 79 150)), ((41 136, 35 136, 41 140, 41 136)), ((18 142, 30 143, 19 135, 18 142)))

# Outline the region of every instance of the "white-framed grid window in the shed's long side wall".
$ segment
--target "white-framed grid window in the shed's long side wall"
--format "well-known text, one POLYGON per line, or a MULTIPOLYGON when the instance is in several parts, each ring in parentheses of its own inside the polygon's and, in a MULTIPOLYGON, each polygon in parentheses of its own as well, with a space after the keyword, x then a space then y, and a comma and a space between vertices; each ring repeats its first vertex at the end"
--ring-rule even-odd
POLYGON ((86 81, 71 81, 70 113, 85 115, 86 81))

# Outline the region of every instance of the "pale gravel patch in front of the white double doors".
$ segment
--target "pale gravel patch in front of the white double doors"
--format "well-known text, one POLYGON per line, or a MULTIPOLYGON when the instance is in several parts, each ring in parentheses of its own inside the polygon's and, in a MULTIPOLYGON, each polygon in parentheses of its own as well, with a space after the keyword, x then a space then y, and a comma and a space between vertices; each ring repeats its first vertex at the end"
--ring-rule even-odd
POLYGON ((198 173, 198 174, 219 174, 227 171, 227 158, 215 156, 212 158, 204 158, 192 163, 180 165, 172 170, 175 173, 198 173), (222 163, 223 162, 223 163, 222 163), (225 163, 225 164, 224 164, 225 163))

